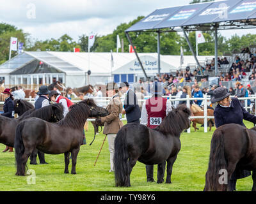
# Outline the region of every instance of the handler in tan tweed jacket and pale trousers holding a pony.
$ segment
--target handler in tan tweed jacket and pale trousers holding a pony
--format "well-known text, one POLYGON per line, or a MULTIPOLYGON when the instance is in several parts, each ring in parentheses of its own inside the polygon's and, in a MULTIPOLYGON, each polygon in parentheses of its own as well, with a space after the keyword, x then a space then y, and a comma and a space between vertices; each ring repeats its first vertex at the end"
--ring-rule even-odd
POLYGON ((109 112, 109 115, 106 117, 101 117, 100 119, 96 119, 96 122, 104 122, 104 129, 103 134, 108 136, 108 145, 109 145, 109 152, 110 152, 110 170, 114 170, 114 144, 115 144, 115 138, 116 133, 120 128, 122 128, 122 110, 123 105, 120 101, 120 97, 118 95, 118 86, 115 84, 115 82, 108 83, 106 87, 106 92, 108 94, 108 97, 111 97, 109 104, 107 106, 107 110, 109 112))

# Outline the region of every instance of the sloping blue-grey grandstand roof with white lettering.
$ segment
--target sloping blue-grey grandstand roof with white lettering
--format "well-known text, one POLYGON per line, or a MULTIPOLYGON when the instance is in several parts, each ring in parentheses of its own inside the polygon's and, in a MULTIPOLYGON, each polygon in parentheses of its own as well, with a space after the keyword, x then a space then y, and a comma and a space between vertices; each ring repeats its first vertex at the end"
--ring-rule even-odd
POLYGON ((254 25, 250 20, 256 17, 255 0, 226 0, 210 3, 189 4, 171 8, 158 9, 132 25, 125 32, 188 27, 226 22, 223 26, 254 25), (246 20, 244 22, 244 20, 246 20), (227 24, 227 22, 229 22, 227 24), (246 23, 246 24, 244 24, 246 23))

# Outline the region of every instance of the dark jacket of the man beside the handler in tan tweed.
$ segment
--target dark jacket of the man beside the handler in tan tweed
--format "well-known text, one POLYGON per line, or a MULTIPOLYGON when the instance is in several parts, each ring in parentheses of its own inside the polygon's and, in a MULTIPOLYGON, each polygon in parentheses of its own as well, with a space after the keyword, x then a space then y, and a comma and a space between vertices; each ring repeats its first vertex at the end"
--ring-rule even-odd
POLYGON ((130 89, 124 98, 124 110, 126 112, 127 122, 133 122, 140 119, 140 108, 136 94, 130 89))

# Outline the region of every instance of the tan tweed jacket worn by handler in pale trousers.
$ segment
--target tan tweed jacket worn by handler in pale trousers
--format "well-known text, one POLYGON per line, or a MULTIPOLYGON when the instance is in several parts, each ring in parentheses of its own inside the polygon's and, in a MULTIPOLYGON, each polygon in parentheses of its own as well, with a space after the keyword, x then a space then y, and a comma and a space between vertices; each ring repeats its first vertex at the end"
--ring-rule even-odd
POLYGON ((123 122, 120 120, 120 117, 122 117, 123 105, 117 94, 109 101, 106 109, 108 110, 109 115, 101 117, 101 122, 104 122, 103 134, 116 134, 123 126, 123 122))

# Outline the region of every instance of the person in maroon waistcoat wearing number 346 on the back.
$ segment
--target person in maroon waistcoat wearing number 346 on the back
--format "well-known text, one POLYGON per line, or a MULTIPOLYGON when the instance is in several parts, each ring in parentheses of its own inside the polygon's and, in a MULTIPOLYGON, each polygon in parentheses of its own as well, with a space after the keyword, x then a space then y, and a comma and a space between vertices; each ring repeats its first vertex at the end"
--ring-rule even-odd
MULTIPOLYGON (((159 126, 168 114, 172 110, 172 103, 166 98, 163 98, 163 84, 159 82, 153 82, 149 87, 150 93, 153 95, 151 98, 147 99, 141 109, 141 124, 147 126, 148 128, 156 128, 159 126)), ((157 171, 161 180, 157 182, 163 182, 165 165, 158 164, 157 171)), ((154 165, 146 165, 147 182, 154 182, 154 165)), ((157 176, 157 178, 159 178, 157 176)))

